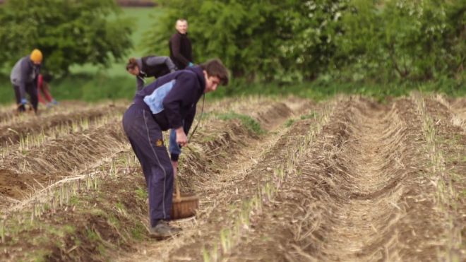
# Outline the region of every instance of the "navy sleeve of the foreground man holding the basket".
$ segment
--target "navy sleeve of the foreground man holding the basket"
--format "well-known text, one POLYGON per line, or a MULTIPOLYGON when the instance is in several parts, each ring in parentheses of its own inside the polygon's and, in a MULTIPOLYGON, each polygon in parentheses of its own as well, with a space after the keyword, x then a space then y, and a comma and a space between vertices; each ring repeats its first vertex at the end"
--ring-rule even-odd
MULTIPOLYGON (((198 90, 198 81, 195 73, 180 73, 172 90, 163 100, 163 108, 167 116, 169 125, 173 129, 183 126, 181 118, 181 107, 193 105, 196 107, 196 90, 198 90)), ((192 120, 191 120, 192 123, 192 120)))

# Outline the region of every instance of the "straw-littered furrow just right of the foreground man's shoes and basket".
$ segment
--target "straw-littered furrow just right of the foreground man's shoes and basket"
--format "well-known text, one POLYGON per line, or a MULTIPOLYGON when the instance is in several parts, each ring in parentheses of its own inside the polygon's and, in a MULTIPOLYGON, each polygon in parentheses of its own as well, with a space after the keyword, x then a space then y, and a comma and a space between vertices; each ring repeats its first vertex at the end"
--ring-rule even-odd
MULTIPOLYGON (((327 105, 328 106, 328 105, 327 105)), ((279 109, 282 106, 278 107, 279 109)), ((325 105, 310 106, 305 104, 295 107, 299 121, 289 129, 272 129, 266 138, 261 141, 249 141, 246 148, 238 150, 234 155, 225 159, 221 167, 206 174, 210 179, 202 184, 201 208, 196 221, 192 225, 181 222, 184 232, 180 237, 170 239, 160 244, 148 244, 138 248, 138 253, 119 258, 121 261, 150 261, 157 257, 162 261, 200 260, 203 252, 211 252, 214 246, 220 246, 220 232, 231 230, 240 220, 249 219, 249 212, 244 211, 246 201, 256 198, 259 191, 263 191, 264 199, 267 197, 265 188, 274 190, 275 172, 283 169, 286 160, 299 150, 299 145, 306 143, 306 133, 316 123, 316 118, 323 117, 325 105), (246 215, 248 218, 241 218, 246 215), (218 244, 218 245, 217 245, 218 244)), ((280 109, 280 111, 282 111, 280 109)), ((271 126, 283 123, 285 119, 275 117, 277 111, 263 115, 268 121, 275 122, 271 126)), ((278 127, 278 126, 277 126, 278 127)), ((271 193, 271 192, 269 192, 271 193)), ((261 200, 262 201, 262 200, 261 200)), ((241 237, 243 229, 237 228, 237 236, 241 237)))

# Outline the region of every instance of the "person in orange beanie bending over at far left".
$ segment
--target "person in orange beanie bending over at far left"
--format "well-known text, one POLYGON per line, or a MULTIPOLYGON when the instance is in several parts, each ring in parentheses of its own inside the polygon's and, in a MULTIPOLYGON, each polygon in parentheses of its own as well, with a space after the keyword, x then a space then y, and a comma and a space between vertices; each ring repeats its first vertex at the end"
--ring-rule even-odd
POLYGON ((28 93, 32 109, 37 113, 37 77, 40 73, 42 58, 42 52, 34 49, 30 55, 19 59, 11 70, 10 80, 15 90, 18 112, 25 111, 25 105, 28 104, 26 93, 28 93))

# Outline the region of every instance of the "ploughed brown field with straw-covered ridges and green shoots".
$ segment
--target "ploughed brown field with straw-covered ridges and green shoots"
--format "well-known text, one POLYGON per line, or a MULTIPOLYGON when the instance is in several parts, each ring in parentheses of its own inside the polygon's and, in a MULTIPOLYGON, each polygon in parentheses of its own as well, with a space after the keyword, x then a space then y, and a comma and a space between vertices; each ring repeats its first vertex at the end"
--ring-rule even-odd
POLYGON ((465 261, 466 99, 209 103, 180 161, 201 199, 148 237, 127 102, 0 116, 0 260, 465 261))

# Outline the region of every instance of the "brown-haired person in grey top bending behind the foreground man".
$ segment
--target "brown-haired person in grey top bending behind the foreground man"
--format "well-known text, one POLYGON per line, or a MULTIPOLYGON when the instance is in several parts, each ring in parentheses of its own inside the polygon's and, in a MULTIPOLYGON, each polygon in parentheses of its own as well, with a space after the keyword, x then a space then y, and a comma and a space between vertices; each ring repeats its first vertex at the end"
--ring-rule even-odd
POLYGON ((168 56, 131 57, 128 64, 126 64, 126 71, 136 76, 136 87, 139 91, 144 88, 144 78, 165 76, 167 73, 177 71, 177 66, 173 64, 172 59, 168 56))

